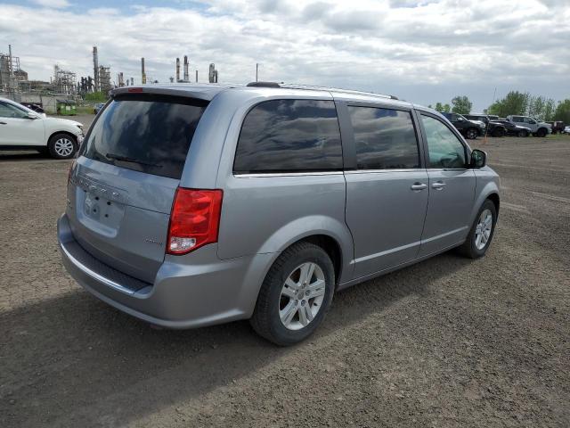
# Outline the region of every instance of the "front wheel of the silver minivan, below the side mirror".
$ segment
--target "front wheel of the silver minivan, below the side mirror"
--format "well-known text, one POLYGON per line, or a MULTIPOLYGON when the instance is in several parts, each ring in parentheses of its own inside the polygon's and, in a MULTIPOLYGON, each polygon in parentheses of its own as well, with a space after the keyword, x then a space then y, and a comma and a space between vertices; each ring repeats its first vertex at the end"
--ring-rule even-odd
POLYGON ((460 253, 469 259, 485 256, 493 240, 496 224, 497 209, 493 201, 487 199, 479 209, 465 243, 459 247, 460 253))

